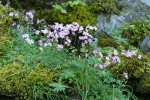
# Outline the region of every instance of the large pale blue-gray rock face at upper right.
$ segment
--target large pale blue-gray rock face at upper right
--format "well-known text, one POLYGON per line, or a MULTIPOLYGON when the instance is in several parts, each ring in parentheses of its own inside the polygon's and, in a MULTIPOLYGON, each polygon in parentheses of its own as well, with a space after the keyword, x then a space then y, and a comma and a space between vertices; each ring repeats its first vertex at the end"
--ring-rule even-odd
POLYGON ((97 24, 98 33, 111 34, 114 29, 121 28, 133 19, 150 19, 150 0, 118 0, 125 7, 120 15, 100 14, 97 24))

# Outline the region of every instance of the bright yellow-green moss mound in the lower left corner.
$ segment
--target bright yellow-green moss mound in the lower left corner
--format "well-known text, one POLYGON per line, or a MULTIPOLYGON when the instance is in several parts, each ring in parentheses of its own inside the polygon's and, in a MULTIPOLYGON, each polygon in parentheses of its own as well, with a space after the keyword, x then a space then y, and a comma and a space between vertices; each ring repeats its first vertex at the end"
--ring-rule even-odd
POLYGON ((17 63, 5 65, 0 70, 0 92, 16 99, 33 100, 33 86, 48 85, 54 72, 43 67, 32 68, 17 63))

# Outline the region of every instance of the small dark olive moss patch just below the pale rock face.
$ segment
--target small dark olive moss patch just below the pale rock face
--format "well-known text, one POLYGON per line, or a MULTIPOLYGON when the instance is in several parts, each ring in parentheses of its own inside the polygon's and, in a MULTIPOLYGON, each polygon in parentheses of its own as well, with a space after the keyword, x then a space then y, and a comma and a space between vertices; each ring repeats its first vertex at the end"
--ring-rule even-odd
POLYGON ((98 38, 99 47, 117 47, 117 42, 115 39, 111 38, 107 34, 102 34, 98 38))

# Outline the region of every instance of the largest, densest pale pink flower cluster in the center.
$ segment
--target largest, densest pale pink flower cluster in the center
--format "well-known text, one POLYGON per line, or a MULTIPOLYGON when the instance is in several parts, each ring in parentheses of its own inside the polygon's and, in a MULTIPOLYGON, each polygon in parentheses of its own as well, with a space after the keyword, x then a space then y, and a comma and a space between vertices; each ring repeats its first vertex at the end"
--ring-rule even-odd
MULTIPOLYGON (((38 23, 41 21, 38 21, 38 23)), ((90 25, 84 28, 77 22, 67 25, 55 23, 54 25, 45 25, 43 30, 35 30, 35 34, 45 36, 38 41, 41 47, 51 46, 56 43, 58 50, 69 46, 74 46, 78 49, 92 41, 93 36, 89 33, 91 30, 97 30, 97 28, 90 25)))

